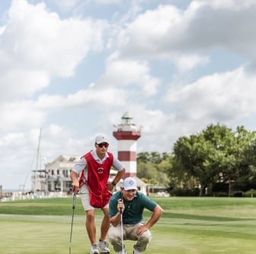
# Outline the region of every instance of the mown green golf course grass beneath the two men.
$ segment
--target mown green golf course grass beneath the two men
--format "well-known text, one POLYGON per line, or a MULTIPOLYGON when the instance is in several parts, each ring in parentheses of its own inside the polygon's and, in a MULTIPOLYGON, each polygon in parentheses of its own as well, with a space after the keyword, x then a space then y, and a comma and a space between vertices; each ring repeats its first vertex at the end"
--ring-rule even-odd
MULTIPOLYGON (((165 209, 152 227, 147 254, 255 253, 256 199, 154 198, 165 209)), ((150 213, 145 212, 145 220, 150 213)), ((5 254, 69 253, 72 198, 0 202, 0 249, 5 254)), ((99 230, 102 214, 97 211, 99 230)), ((98 233, 97 233, 98 234, 98 233)), ((127 254, 133 242, 126 241, 127 254)), ((88 253, 85 215, 77 198, 72 254, 88 253)), ((112 246, 110 250, 114 253, 112 246)))

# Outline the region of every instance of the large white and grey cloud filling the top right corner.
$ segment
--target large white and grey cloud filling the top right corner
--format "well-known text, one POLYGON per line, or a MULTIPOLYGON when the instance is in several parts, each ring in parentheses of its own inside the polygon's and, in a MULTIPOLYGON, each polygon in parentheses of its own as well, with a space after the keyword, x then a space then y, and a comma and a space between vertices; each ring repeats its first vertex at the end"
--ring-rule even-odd
POLYGON ((254 61, 254 1, 194 1, 181 11, 171 5, 145 11, 120 30, 121 56, 171 59, 222 48, 254 61))

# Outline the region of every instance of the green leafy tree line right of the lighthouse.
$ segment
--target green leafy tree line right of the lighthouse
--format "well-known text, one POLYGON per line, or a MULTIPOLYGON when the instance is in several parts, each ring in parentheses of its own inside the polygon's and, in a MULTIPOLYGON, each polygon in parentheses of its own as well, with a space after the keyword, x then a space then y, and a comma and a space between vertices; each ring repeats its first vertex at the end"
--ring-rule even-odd
POLYGON ((242 195, 256 189, 256 132, 208 125, 170 153, 137 154, 137 176, 174 195, 242 195))

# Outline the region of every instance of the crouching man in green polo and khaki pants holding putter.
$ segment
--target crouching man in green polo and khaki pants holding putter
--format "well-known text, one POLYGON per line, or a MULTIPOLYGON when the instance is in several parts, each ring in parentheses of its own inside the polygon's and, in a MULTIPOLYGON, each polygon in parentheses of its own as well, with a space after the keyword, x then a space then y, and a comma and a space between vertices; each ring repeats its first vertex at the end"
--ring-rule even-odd
POLYGON ((123 180, 121 190, 116 192, 109 203, 110 229, 108 239, 118 254, 123 252, 123 240, 134 240, 133 254, 140 254, 146 248, 152 238, 149 229, 163 213, 163 209, 142 192, 138 191, 136 179, 127 177, 123 180), (143 222, 143 209, 152 211, 149 221, 143 222), (121 217, 122 216, 122 217, 121 217), (122 219, 122 220, 121 220, 122 219), (122 221, 122 223, 121 223, 122 221), (123 225, 123 230, 121 226, 123 225), (123 237, 121 232, 123 231, 123 237))

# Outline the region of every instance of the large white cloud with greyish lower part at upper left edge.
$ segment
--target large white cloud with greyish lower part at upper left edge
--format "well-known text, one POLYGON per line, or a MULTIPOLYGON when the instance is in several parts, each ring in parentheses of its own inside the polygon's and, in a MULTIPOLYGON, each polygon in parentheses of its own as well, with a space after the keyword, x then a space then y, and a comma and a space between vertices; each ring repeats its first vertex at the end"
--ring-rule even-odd
POLYGON ((69 18, 46 10, 43 3, 15 0, 0 34, 0 86, 3 100, 27 97, 50 84, 53 76, 69 77, 89 50, 103 49, 102 21, 69 18))

